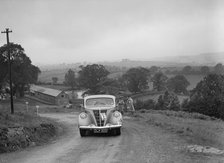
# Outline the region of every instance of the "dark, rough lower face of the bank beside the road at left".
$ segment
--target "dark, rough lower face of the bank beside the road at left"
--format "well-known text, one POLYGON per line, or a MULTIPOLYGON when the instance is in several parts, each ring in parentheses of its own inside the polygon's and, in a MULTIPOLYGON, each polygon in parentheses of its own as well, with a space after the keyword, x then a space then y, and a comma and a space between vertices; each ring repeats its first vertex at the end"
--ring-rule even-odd
POLYGON ((50 123, 41 123, 29 127, 0 127, 0 154, 40 144, 56 134, 56 127, 50 123))

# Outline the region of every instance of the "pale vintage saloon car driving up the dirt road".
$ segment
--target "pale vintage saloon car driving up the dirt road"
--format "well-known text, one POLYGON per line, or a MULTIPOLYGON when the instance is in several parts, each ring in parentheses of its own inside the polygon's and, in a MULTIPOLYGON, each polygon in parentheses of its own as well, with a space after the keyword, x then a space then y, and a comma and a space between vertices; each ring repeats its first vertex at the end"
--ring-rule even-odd
POLYGON ((81 136, 87 133, 121 134, 122 115, 116 109, 115 96, 90 95, 84 97, 84 111, 79 114, 81 136))

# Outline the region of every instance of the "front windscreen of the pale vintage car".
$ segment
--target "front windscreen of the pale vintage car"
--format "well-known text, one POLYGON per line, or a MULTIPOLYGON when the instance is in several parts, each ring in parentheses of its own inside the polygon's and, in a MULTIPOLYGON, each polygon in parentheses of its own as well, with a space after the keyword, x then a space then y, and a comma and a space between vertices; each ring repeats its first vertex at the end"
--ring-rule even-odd
POLYGON ((86 107, 105 107, 114 105, 112 98, 90 98, 86 100, 86 107))

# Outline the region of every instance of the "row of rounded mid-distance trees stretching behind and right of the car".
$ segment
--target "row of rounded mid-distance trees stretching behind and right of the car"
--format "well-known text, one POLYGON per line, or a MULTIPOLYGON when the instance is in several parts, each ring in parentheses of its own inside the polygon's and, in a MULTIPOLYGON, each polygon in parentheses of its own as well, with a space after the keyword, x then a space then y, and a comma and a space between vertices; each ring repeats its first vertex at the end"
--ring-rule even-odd
POLYGON ((156 91, 170 90, 175 93, 187 94, 190 83, 184 75, 176 75, 168 78, 163 72, 144 67, 128 69, 124 74, 116 78, 109 78, 109 71, 100 64, 80 66, 76 74, 69 69, 65 74, 64 84, 72 89, 88 89, 90 93, 97 94, 107 92, 116 94, 119 90, 128 90, 131 93, 141 93, 149 89, 149 83, 153 83, 156 91))

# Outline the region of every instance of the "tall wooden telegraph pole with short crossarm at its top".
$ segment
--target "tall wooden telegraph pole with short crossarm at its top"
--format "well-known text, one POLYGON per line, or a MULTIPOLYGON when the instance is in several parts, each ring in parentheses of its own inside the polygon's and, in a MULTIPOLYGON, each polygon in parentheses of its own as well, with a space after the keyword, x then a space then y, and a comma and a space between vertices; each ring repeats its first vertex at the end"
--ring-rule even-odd
POLYGON ((9 85, 10 85, 10 99, 11 99, 11 114, 14 114, 14 107, 13 107, 13 93, 12 93, 12 70, 11 70, 11 55, 10 55, 10 48, 9 48, 9 33, 12 31, 9 28, 6 28, 5 31, 1 33, 6 33, 6 40, 7 40, 7 52, 8 52, 8 63, 9 63, 9 85))

